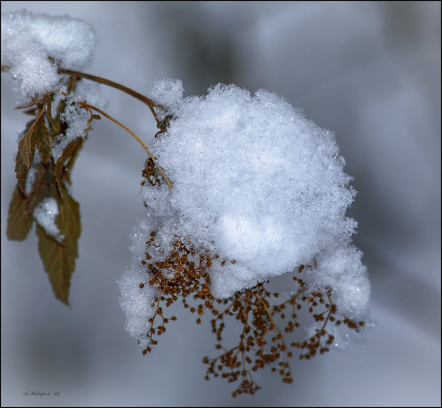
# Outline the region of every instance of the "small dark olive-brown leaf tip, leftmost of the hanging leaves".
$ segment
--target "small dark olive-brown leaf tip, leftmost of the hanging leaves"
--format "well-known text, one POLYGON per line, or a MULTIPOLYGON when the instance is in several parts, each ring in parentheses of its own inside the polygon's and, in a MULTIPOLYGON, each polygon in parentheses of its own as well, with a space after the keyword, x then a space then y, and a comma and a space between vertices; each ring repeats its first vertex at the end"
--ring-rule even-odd
POLYGON ((32 228, 32 220, 26 210, 26 197, 16 185, 9 203, 6 234, 9 239, 24 240, 32 228))

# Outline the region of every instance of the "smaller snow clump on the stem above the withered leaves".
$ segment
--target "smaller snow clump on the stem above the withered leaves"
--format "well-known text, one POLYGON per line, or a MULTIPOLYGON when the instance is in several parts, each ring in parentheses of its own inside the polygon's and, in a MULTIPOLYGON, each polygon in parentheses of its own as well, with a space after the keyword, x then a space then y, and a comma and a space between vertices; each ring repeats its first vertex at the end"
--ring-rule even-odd
POLYGON ((57 90, 61 78, 49 57, 63 68, 82 69, 96 42, 89 24, 67 15, 2 13, 2 64, 11 67, 17 101, 25 104, 57 90))

